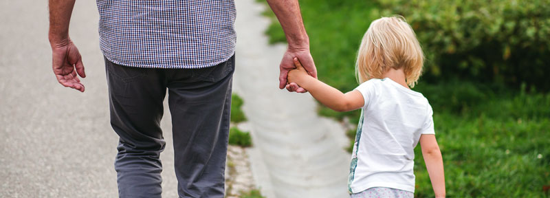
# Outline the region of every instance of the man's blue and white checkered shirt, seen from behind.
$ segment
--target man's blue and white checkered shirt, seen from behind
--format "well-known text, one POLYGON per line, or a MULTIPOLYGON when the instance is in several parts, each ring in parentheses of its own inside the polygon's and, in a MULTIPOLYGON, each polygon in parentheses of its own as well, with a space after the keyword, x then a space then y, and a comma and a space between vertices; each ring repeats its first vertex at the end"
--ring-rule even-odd
POLYGON ((203 68, 235 50, 233 0, 97 0, 100 48, 131 67, 203 68))

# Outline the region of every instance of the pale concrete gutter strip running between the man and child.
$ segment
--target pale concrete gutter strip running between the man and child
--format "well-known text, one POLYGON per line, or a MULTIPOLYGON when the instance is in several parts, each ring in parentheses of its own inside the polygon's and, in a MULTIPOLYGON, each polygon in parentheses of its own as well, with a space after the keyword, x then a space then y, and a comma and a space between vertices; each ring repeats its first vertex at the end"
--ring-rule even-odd
MULTIPOLYGON (((237 1, 235 92, 243 97, 255 148, 256 183, 267 197, 347 197, 349 144, 340 124, 317 115, 309 94, 278 89, 285 45, 267 45, 263 4, 237 1)), ((320 64, 320 63, 318 63, 320 64)))

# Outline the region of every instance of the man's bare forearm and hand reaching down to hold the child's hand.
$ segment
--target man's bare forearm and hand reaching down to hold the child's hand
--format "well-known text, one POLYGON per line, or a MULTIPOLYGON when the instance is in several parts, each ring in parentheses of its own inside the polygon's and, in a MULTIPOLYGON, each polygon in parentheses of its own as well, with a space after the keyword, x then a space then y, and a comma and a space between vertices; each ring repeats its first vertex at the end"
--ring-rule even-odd
MULTIPOLYGON (((281 60, 279 75, 279 88, 283 89, 287 85, 287 75, 289 70, 294 67, 294 57, 298 57, 308 74, 317 78, 317 69, 314 59, 309 52, 309 37, 304 28, 302 14, 298 0, 267 0, 271 9, 275 13, 281 27, 287 37, 288 49, 281 60)), ((289 91, 305 92, 305 89, 292 89, 286 86, 289 91)), ((297 86, 296 86, 297 87, 297 86)))

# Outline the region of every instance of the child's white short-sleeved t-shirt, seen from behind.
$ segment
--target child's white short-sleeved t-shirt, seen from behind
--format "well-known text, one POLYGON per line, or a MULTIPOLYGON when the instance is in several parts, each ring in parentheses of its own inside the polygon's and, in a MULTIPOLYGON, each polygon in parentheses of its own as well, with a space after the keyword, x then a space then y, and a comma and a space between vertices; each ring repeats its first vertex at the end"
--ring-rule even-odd
POLYGON ((364 98, 351 156, 348 190, 373 187, 415 192, 414 148, 421 134, 434 134, 432 107, 422 94, 390 78, 355 88, 364 98))

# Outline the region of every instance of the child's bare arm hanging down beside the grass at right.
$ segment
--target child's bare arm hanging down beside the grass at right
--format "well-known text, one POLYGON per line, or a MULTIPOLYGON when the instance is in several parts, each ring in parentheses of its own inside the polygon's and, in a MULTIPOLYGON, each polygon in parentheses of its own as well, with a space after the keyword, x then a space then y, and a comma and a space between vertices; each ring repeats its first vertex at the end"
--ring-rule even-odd
POLYGON ((445 197, 445 173, 443 172, 443 157, 435 140, 435 135, 420 135, 422 156, 432 181, 435 197, 445 197))

